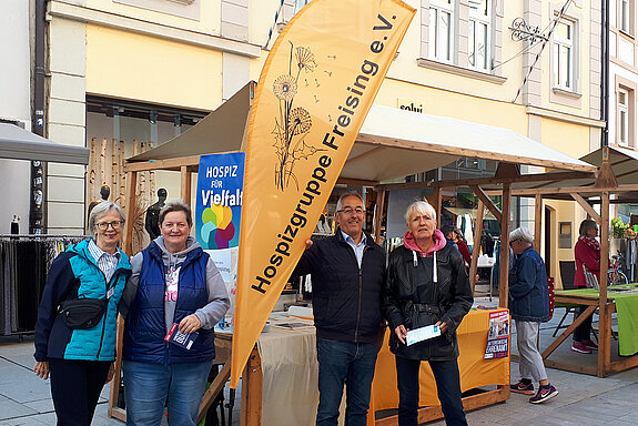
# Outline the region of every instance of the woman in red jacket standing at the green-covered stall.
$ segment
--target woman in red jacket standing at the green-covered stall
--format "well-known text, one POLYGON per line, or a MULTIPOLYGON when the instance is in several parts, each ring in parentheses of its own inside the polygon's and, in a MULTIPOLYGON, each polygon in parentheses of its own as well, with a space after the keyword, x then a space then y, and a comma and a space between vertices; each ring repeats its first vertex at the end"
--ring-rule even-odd
MULTIPOLYGON (((598 226, 591 220, 585 220, 580 223, 580 236, 574 247, 574 257, 576 260, 576 274, 574 285, 576 287, 586 287, 585 271, 583 266, 600 280, 600 243, 596 241, 598 236, 598 226)), ((587 306, 578 306, 578 316, 583 315, 587 306)), ((590 354, 597 351, 598 345, 591 341, 591 315, 574 331, 574 342, 571 351, 580 354, 590 354)))

